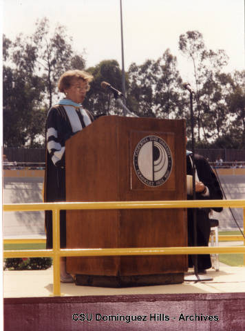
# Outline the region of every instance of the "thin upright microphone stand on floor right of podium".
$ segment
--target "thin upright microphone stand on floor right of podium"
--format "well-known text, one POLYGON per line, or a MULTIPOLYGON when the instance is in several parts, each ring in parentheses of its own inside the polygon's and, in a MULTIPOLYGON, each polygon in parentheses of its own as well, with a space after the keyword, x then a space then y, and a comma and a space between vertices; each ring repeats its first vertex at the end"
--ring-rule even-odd
MULTIPOLYGON (((192 150, 192 190, 193 200, 195 200, 195 137, 194 137, 194 116, 193 116, 193 91, 187 89, 190 93, 190 110, 191 110, 191 150, 192 150)), ((198 231, 197 231, 197 208, 193 208, 193 232, 194 232, 194 246, 198 245, 198 231)), ((193 254, 194 274, 184 277, 184 281, 212 281, 213 278, 198 274, 198 255, 193 254)))

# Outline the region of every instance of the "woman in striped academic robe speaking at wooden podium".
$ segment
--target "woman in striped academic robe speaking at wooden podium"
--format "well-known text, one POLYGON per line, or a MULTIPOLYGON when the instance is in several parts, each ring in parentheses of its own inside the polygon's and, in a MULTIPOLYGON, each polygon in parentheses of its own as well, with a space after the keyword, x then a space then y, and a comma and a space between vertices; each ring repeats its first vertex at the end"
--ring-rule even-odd
MULTIPOLYGON (((76 132, 83 130, 94 120, 85 110, 85 99, 89 82, 93 77, 81 70, 69 70, 58 81, 58 90, 65 93, 65 99, 50 108, 46 121, 46 166, 44 201, 65 201, 65 141, 76 132)), ((65 210, 60 214, 61 248, 66 247, 65 210)), ((46 248, 51 249, 52 212, 45 211, 46 248)), ((65 271, 65 258, 61 258, 61 281, 72 282, 73 278, 65 271)))

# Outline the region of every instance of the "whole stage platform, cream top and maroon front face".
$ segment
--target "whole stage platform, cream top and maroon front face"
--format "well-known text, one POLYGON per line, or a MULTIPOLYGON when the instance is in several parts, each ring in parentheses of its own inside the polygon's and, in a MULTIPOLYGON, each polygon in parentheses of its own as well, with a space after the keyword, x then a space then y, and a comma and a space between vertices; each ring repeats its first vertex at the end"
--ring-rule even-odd
POLYGON ((213 281, 121 289, 61 283, 52 297, 51 268, 5 271, 4 330, 245 330, 245 267, 207 275, 213 281))

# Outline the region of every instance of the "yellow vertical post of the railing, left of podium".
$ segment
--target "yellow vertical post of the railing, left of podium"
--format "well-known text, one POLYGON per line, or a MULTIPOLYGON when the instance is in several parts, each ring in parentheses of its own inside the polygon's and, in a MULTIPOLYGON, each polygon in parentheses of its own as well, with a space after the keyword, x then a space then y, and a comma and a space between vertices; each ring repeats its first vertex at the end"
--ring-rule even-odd
MULTIPOLYGON (((55 207, 54 207, 55 208, 55 207)), ((61 296, 61 243, 60 243, 60 210, 55 208, 52 210, 53 224, 53 268, 54 268, 54 296, 61 296)))

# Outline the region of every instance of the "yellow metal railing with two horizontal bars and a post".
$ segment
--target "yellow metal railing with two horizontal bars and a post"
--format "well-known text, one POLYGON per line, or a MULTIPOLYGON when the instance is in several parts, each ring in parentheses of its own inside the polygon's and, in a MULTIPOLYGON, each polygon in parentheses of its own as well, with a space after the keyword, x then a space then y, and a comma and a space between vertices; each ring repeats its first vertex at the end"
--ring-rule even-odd
MULTIPOLYGON (((245 200, 204 200, 204 201, 113 201, 113 202, 70 202, 70 203, 24 203, 3 205, 3 211, 40 211, 52 210, 53 249, 52 250, 6 250, 3 257, 52 257, 54 266, 54 296, 61 295, 60 257, 94 257, 116 255, 164 255, 164 254, 224 254, 242 253, 244 246, 224 247, 168 247, 168 248, 60 248, 60 211, 61 210, 98 210, 98 209, 155 209, 155 208, 200 208, 233 207, 243 208, 245 225, 245 200)), ((245 227, 244 227, 245 228, 245 227)))

